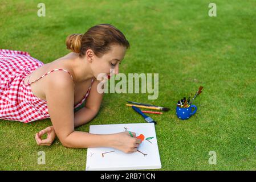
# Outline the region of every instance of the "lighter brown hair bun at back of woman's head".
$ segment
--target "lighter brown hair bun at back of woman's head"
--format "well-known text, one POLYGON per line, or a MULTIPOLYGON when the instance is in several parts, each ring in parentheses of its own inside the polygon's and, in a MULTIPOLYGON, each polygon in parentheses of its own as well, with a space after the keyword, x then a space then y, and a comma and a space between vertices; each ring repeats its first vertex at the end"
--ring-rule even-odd
POLYGON ((83 34, 71 34, 66 39, 67 49, 70 49, 72 52, 80 53, 81 42, 83 34))

